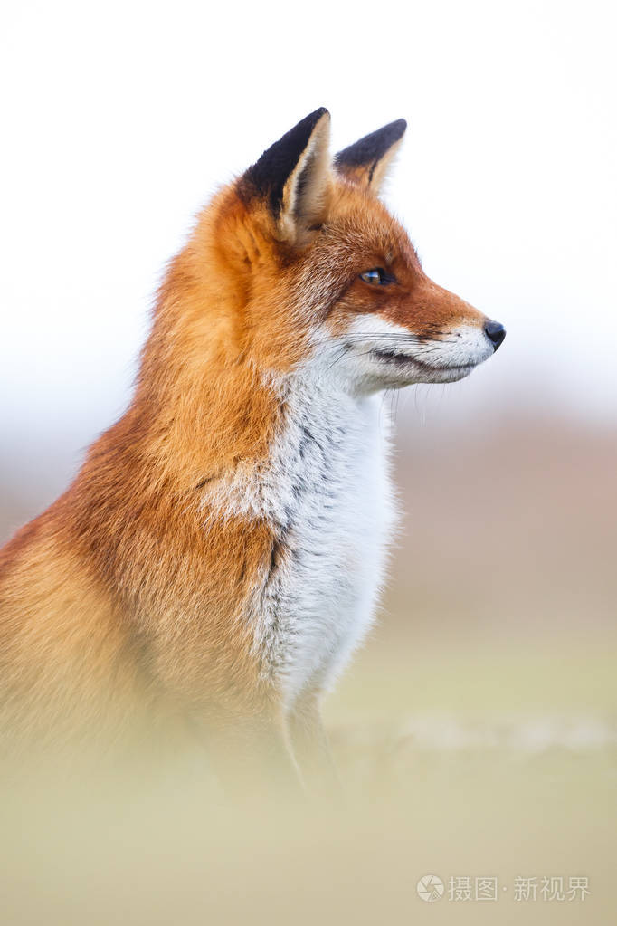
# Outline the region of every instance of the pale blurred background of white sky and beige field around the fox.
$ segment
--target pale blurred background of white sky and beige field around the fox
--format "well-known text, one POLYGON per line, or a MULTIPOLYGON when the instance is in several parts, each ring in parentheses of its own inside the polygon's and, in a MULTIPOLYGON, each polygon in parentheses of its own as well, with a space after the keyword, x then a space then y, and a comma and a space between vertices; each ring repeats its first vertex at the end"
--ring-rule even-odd
MULTIPOLYGON (((6 6, 0 539, 126 406, 154 290, 197 208, 316 106, 335 150, 408 120, 389 203, 427 273, 508 329, 469 381, 399 397, 391 582, 327 703, 342 777, 364 795, 378 767, 391 800, 364 843, 300 840, 282 893, 248 879, 274 921, 323 918, 319 897, 328 922, 497 915, 424 904, 414 885, 431 872, 499 874, 511 894, 517 875, 586 875, 585 921, 614 906, 614 25, 609 4, 556 0, 6 6)), ((7 921, 40 921, 39 892, 58 921, 82 922, 74 858, 26 874, 24 845, 7 921)), ((166 896, 181 887, 184 922, 241 915, 230 887, 210 908, 204 872, 175 865, 166 896)), ((105 871, 128 890, 126 872, 98 870, 97 896, 105 871)), ((172 921, 147 872, 130 921, 172 921)), ((539 895, 500 905, 499 921, 584 915, 539 895)), ((112 921, 101 909, 90 922, 112 921)))

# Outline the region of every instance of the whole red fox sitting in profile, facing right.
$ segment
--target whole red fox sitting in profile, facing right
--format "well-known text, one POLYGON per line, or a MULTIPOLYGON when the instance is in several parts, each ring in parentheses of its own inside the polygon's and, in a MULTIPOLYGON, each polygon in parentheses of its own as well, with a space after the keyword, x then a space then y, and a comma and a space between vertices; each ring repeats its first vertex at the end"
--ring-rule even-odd
POLYGON ((505 336, 379 199, 405 121, 333 159, 329 123, 302 119, 204 208, 128 411, 0 552, 10 734, 145 710, 292 763, 323 741, 394 522, 379 394, 461 380, 505 336))

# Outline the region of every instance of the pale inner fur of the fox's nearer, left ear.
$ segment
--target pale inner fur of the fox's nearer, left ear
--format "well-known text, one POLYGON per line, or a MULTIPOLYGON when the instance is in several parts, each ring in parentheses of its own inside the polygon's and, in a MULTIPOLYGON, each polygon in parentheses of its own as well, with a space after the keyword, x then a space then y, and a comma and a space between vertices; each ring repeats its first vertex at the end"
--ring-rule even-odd
POLYGON ((283 190, 278 226, 284 241, 306 244, 326 219, 330 192, 330 117, 325 113, 283 190))

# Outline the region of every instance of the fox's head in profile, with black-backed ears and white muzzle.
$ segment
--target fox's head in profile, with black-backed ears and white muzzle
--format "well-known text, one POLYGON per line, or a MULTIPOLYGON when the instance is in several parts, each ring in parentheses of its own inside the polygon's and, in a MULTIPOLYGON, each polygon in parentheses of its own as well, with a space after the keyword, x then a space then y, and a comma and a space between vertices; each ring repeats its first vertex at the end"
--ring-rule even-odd
POLYGON ((220 194, 203 219, 204 273, 214 261, 242 304, 230 358, 283 369, 321 357, 353 390, 375 392, 460 380, 497 350, 503 327, 426 277, 378 198, 405 127, 331 161, 329 114, 317 110, 220 194))

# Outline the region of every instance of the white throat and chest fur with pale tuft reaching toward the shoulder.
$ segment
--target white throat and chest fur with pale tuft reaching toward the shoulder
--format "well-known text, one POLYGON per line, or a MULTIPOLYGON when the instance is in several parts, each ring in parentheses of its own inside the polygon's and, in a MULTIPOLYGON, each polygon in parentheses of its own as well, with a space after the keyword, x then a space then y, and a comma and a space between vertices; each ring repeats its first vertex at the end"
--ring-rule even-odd
POLYGON ((324 374, 318 364, 285 382, 267 461, 209 498, 219 516, 263 518, 275 534, 245 618, 287 707, 327 687, 370 627, 394 520, 383 397, 324 374))

